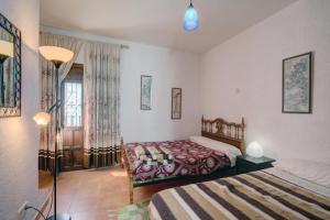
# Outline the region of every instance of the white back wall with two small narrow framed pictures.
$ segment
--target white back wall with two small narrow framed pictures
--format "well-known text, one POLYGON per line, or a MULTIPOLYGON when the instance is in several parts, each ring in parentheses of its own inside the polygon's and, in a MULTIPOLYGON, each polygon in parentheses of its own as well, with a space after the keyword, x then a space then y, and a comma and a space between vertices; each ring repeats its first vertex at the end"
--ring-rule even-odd
MULTIPOLYGON (((105 36, 42 28, 45 32, 129 45, 121 58, 121 130, 124 142, 187 139, 200 132, 199 56, 105 36), (140 110, 141 75, 153 76, 152 110, 140 110), (183 119, 170 120, 170 89, 183 88, 183 119)), ((84 63, 84 52, 78 62, 84 63)))

